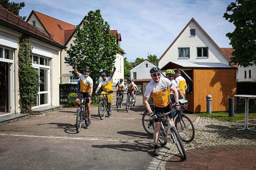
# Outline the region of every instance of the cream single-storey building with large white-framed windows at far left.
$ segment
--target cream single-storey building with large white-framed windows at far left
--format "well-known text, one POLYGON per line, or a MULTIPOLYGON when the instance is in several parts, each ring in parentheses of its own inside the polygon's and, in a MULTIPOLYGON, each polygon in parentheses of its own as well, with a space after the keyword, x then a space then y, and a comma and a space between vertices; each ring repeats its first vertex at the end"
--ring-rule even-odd
POLYGON ((50 33, 0 6, 0 114, 20 113, 17 55, 19 38, 24 34, 30 37, 32 66, 38 71, 38 81, 44 85, 38 89, 32 108, 59 105, 59 53, 66 47, 50 33))

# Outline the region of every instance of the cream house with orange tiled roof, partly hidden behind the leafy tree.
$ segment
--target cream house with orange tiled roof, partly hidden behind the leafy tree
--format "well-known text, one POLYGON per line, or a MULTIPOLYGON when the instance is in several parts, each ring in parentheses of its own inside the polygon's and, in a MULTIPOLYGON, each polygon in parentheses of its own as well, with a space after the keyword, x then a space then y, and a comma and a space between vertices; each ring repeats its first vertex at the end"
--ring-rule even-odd
MULTIPOLYGON (((86 17, 83 19, 86 20, 86 17)), ((76 33, 76 27, 74 25, 68 24, 64 21, 49 17, 45 14, 32 11, 27 19, 27 22, 35 24, 37 27, 51 33, 54 36, 54 40, 70 48, 70 44, 73 43, 74 35, 76 33)), ((83 27, 83 21, 79 24, 83 27)), ((120 47, 120 42, 122 41, 121 34, 118 34, 117 30, 111 30, 111 33, 116 36, 116 43, 120 47)), ((124 78, 124 50, 120 48, 120 53, 116 55, 115 66, 116 73, 112 79, 113 83, 117 83, 120 78, 124 78)), ((72 66, 64 63, 65 57, 69 57, 67 52, 63 49, 60 51, 60 83, 77 82, 78 78, 73 76, 70 71, 72 71, 72 66)), ((100 77, 101 78, 101 77, 100 77)))

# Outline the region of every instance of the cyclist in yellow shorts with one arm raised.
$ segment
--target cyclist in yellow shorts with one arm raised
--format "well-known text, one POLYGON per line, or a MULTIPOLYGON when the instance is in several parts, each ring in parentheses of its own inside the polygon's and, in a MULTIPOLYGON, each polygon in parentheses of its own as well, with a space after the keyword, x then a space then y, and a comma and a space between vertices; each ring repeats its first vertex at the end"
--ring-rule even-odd
MULTIPOLYGON (((112 100, 113 100, 113 88, 112 88, 112 85, 111 85, 111 80, 113 78, 113 75, 115 73, 115 66, 113 68, 113 71, 111 73, 111 75, 109 77, 107 77, 106 73, 102 73, 101 74, 101 78, 102 80, 99 82, 99 85, 95 91, 95 96, 98 96, 98 91, 100 89, 100 87, 102 87, 102 92, 100 94, 107 94, 107 93, 111 93, 107 96, 107 102, 108 102, 108 105, 109 105, 109 115, 112 114, 112 111, 111 111, 111 108, 112 108, 112 100)), ((100 96, 100 99, 102 98, 102 96, 100 96)))

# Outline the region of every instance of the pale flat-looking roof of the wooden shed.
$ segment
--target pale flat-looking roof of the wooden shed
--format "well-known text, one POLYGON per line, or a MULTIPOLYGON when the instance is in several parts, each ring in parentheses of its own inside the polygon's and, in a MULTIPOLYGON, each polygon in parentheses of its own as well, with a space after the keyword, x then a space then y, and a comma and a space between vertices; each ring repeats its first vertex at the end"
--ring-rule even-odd
POLYGON ((180 62, 173 61, 167 63, 165 66, 161 68, 162 71, 167 69, 192 69, 192 68, 226 68, 226 69, 236 69, 236 67, 229 66, 227 64, 219 63, 219 62, 180 62))

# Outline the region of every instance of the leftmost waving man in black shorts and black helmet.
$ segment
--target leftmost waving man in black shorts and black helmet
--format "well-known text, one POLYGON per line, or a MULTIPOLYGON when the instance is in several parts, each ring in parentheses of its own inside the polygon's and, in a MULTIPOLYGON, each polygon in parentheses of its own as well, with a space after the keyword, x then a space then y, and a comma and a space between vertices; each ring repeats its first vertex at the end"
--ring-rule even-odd
MULTIPOLYGON (((85 68, 83 69, 83 74, 80 74, 77 69, 77 62, 74 62, 73 69, 76 73, 76 75, 80 78, 80 93, 77 96, 80 96, 80 94, 84 97, 88 97, 89 99, 85 100, 86 106, 87 106, 87 113, 88 113, 88 125, 91 125, 91 94, 93 89, 93 81, 90 74, 90 69, 85 68)), ((77 106, 79 106, 79 99, 75 100, 75 103, 77 106)))

